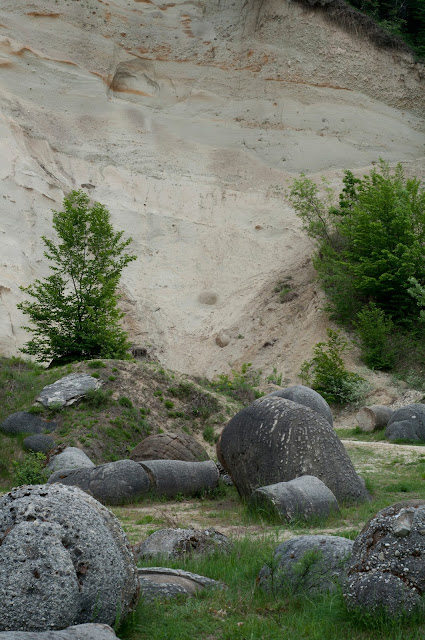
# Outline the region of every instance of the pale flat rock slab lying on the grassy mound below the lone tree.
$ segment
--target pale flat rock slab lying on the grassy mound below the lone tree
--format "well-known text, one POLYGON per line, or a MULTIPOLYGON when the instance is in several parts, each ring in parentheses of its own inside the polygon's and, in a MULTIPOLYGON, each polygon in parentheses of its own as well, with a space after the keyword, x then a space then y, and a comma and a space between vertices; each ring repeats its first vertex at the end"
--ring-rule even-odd
POLYGON ((70 373, 44 387, 36 402, 46 408, 52 405, 65 407, 83 398, 88 391, 98 389, 101 384, 100 380, 88 373, 70 373))

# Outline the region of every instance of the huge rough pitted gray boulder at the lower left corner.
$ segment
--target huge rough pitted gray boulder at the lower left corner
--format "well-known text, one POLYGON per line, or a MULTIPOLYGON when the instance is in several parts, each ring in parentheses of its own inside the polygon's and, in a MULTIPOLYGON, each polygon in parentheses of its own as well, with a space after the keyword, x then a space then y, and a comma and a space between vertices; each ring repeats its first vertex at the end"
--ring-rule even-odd
POLYGON ((113 624, 135 605, 134 557, 115 516, 76 487, 0 498, 0 631, 113 624))

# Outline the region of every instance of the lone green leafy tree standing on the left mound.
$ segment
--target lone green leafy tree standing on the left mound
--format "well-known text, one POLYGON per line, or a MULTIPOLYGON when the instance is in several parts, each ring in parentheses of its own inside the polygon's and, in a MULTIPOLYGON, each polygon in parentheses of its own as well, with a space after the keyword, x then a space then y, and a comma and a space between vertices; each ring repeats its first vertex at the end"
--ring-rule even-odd
POLYGON ((125 251, 131 238, 122 240, 108 210, 90 206, 83 191, 72 191, 63 208, 53 211, 58 242, 43 236, 51 275, 21 287, 33 298, 18 305, 33 325, 25 327, 33 337, 22 351, 53 364, 122 358, 129 345, 116 290, 123 268, 136 259, 125 251))

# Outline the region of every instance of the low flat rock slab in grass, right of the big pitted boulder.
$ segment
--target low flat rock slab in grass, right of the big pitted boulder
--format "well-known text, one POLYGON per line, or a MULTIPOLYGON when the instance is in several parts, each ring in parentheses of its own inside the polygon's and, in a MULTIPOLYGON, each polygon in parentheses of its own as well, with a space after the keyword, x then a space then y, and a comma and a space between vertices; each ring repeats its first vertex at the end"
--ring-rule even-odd
POLYGON ((181 569, 149 567, 138 569, 142 597, 146 600, 170 599, 178 595, 192 596, 204 589, 225 589, 217 580, 181 569))

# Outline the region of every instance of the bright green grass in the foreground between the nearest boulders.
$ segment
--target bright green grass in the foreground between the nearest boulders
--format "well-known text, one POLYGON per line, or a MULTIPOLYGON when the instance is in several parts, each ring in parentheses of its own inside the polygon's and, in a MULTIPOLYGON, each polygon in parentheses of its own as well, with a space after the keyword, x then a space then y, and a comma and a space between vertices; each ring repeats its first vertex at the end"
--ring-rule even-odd
MULTIPOLYGON (((214 578, 225 590, 204 591, 191 598, 140 601, 134 615, 118 630, 122 640, 419 640, 425 625, 370 620, 349 613, 339 591, 312 597, 277 590, 263 592, 257 575, 272 562, 276 540, 242 539, 229 555, 152 565, 171 566, 214 578)), ((144 562, 144 566, 149 563, 144 562)))

